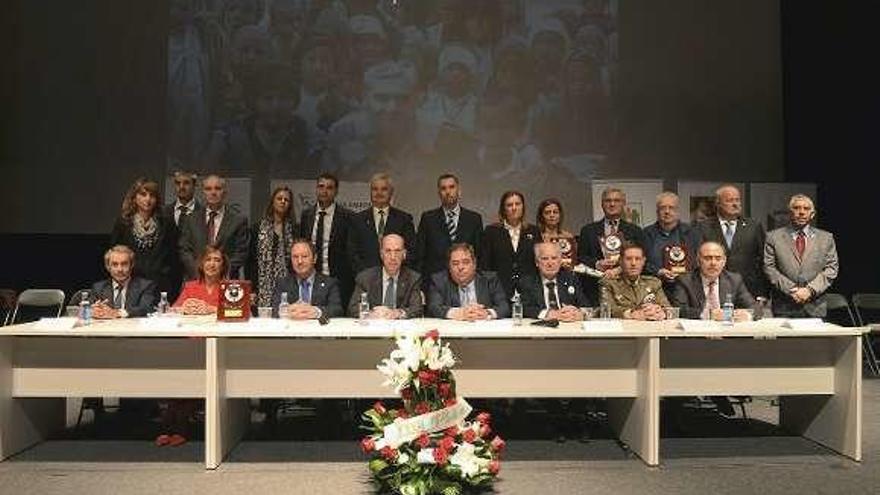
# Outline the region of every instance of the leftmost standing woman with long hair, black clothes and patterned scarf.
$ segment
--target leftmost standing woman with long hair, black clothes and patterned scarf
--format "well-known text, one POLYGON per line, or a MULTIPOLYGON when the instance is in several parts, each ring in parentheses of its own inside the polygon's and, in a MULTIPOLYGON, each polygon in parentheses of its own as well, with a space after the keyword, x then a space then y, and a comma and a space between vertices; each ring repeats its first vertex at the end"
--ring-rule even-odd
POLYGON ((180 290, 177 258, 177 226, 174 219, 162 214, 159 184, 143 177, 134 181, 125 199, 122 212, 110 233, 110 246, 122 244, 134 251, 132 274, 156 283, 159 291, 180 290))

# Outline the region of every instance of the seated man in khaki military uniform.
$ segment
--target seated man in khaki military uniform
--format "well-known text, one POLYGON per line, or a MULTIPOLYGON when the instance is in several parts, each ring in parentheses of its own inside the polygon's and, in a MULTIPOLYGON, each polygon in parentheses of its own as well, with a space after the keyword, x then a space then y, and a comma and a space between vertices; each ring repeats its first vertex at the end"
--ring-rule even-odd
POLYGON ((618 278, 603 278, 602 302, 611 308, 611 316, 628 320, 666 319, 664 307, 670 306, 663 284, 657 277, 642 275, 645 251, 638 244, 627 244, 620 257, 618 278))

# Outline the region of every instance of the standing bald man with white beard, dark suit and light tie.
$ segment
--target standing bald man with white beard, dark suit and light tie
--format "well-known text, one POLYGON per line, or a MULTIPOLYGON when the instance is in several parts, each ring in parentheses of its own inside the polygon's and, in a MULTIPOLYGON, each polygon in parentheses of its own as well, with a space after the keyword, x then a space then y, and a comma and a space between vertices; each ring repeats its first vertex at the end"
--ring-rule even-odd
POLYGON ((701 240, 720 244, 727 256, 727 269, 742 276, 751 294, 767 297, 764 226, 742 217, 742 195, 731 184, 715 190, 715 209, 716 217, 700 223, 701 240))

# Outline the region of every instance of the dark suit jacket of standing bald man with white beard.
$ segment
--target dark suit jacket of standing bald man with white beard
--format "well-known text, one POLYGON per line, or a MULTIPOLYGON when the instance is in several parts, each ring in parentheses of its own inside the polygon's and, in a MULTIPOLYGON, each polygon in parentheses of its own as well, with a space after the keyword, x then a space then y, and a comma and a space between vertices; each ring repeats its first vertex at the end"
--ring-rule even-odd
POLYGON ((727 254, 727 270, 742 275, 749 292, 755 296, 767 297, 769 292, 767 277, 764 275, 764 226, 750 218, 740 218, 736 222, 731 247, 727 247, 721 224, 717 217, 700 223, 702 240, 714 241, 724 247, 727 254))

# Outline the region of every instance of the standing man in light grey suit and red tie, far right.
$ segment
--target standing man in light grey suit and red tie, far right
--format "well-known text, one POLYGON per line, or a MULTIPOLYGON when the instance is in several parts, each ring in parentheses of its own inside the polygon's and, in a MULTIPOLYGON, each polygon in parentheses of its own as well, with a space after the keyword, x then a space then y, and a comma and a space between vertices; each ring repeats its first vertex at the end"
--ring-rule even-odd
POLYGON ((764 272, 773 288, 773 314, 823 317, 820 296, 837 278, 834 235, 810 225, 816 216, 813 200, 795 194, 788 201, 791 224, 773 230, 764 246, 764 272))

